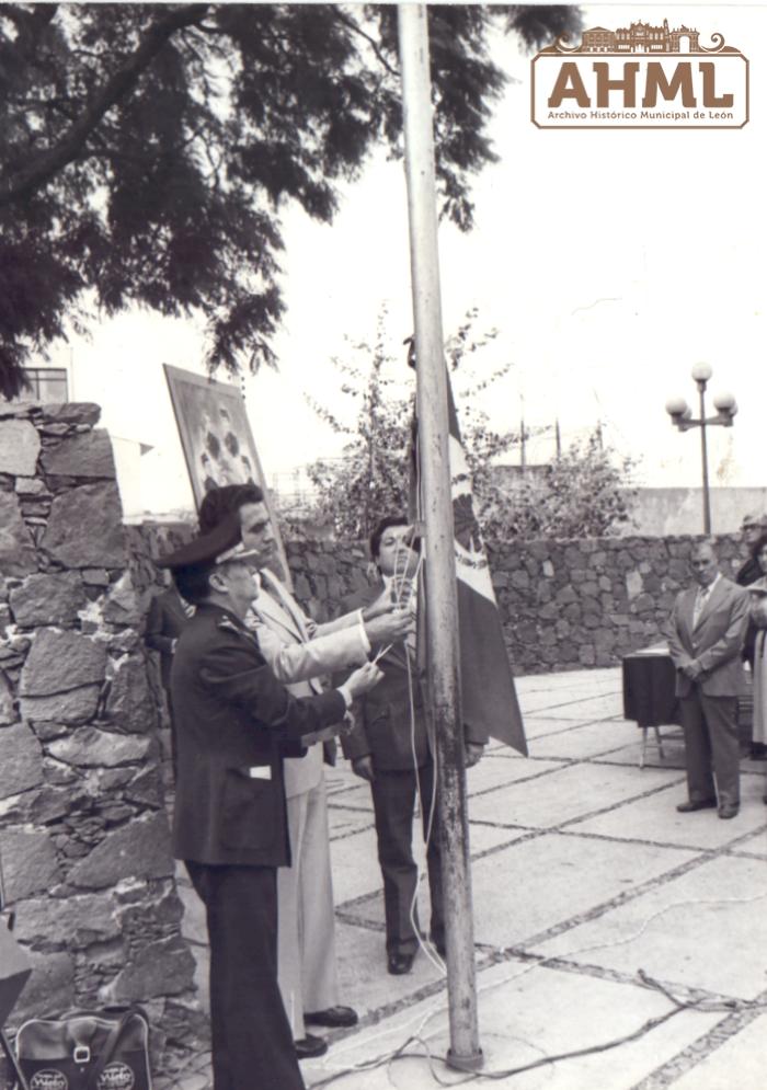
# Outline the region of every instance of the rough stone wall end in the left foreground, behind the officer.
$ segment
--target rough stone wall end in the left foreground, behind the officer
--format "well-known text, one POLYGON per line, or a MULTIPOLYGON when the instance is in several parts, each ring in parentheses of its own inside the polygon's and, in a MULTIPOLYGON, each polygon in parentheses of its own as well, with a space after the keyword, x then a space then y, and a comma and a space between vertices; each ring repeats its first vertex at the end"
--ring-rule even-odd
POLYGON ((99 412, 0 405, 0 851, 34 966, 11 1022, 137 1000, 168 1075, 205 1022, 180 933, 146 588, 99 412))

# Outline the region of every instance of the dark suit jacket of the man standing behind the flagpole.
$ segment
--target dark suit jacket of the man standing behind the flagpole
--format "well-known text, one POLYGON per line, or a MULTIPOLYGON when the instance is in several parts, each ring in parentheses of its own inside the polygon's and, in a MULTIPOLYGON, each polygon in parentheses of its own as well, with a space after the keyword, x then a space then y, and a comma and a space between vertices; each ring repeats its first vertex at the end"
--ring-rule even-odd
MULTIPOLYGON (((344 609, 368 606, 384 593, 379 582, 357 595, 346 598, 344 609)), ((408 673, 408 653, 397 643, 378 661, 384 677, 354 705, 354 730, 342 737, 344 756, 350 760, 370 755, 380 771, 404 771, 413 768, 413 750, 419 768, 432 751, 425 710, 425 692, 416 668, 408 673), (411 688, 413 707, 411 711, 411 688)), ((484 745, 486 735, 474 736, 467 727, 466 741, 484 745)))

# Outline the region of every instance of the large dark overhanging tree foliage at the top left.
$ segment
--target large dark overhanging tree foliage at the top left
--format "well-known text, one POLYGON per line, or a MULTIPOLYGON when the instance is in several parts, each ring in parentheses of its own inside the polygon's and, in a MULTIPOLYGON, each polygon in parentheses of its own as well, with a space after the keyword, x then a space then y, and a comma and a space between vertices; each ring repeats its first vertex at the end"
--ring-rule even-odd
MULTIPOLYGON (((443 213, 471 225, 504 85, 489 36, 568 4, 430 9, 443 213)), ((95 301, 202 312, 207 363, 274 365, 281 213, 329 221, 377 144, 400 154, 396 5, 0 4, 0 389, 95 301)))

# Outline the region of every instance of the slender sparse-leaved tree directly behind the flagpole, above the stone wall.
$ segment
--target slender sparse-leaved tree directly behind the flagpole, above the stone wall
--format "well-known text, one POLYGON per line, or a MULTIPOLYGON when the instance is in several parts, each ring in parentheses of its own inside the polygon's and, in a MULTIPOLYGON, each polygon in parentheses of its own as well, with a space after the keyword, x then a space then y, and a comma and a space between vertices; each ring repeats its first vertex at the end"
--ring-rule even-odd
MULTIPOLYGON (((516 432, 491 428, 488 414, 474 401, 481 390, 511 368, 511 364, 493 370, 482 367, 484 349, 497 331, 478 335, 477 321, 478 311, 472 308, 447 340, 445 356, 456 387, 456 408, 474 490, 479 495, 494 495, 492 463, 519 437, 516 432)), ((321 459, 308 467, 317 496, 301 515, 332 526, 339 537, 356 541, 370 533, 382 514, 408 509, 415 382, 413 372, 405 367, 404 348, 397 342, 392 348, 385 307, 378 315, 373 344, 347 339, 347 345, 356 358, 334 357, 332 363, 343 377, 340 391, 353 402, 353 415, 343 418, 308 399, 318 416, 337 435, 346 436, 347 443, 341 458, 321 459)))

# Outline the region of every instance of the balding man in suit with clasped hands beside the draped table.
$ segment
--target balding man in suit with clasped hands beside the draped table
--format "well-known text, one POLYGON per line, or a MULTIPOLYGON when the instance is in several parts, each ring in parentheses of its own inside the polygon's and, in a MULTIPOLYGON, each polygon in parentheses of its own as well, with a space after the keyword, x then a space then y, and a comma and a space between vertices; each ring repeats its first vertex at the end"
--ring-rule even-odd
POLYGON ((720 573, 711 541, 692 548, 690 567, 697 586, 677 596, 668 639, 689 795, 676 808, 687 814, 718 806, 726 819, 735 817, 741 803, 736 715, 745 686, 741 650, 748 594, 720 573))

